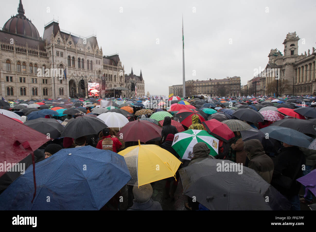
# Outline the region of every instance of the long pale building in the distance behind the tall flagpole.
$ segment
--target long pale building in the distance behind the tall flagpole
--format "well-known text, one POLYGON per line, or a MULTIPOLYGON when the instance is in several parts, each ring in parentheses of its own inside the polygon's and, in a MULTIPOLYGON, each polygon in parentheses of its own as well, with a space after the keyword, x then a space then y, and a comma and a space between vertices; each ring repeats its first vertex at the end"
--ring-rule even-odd
MULTIPOLYGON (((218 96, 217 85, 228 85, 228 96, 240 96, 240 77, 233 76, 225 79, 210 79, 210 80, 187 80, 185 81, 185 89, 191 90, 191 95, 208 95, 218 96)), ((169 86, 169 94, 173 93, 175 96, 183 95, 183 85, 169 86)))

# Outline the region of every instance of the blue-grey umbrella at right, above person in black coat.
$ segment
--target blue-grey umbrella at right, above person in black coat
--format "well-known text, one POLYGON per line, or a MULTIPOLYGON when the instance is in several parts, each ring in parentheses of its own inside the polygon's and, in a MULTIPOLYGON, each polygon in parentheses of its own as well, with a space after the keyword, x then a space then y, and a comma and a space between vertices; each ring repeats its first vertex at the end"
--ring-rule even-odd
POLYGON ((313 138, 303 134, 302 132, 286 127, 268 126, 261 128, 260 131, 264 134, 268 133, 269 137, 272 139, 276 139, 293 146, 308 147, 313 141, 313 138))

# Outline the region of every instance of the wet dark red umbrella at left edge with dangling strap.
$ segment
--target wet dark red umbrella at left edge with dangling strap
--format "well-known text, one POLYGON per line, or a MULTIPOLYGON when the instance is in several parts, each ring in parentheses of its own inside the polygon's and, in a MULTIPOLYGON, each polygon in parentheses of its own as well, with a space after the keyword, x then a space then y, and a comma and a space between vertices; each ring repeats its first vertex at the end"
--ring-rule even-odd
MULTIPOLYGON (((34 175, 34 197, 36 195, 35 181, 35 161, 34 151, 49 141, 46 134, 42 134, 20 122, 0 114, 0 163, 13 164, 19 163, 22 159, 32 154, 33 175, 34 175)), ((0 176, 6 172, 6 167, 0 171, 0 176)), ((32 200, 33 202, 33 200, 32 200)))

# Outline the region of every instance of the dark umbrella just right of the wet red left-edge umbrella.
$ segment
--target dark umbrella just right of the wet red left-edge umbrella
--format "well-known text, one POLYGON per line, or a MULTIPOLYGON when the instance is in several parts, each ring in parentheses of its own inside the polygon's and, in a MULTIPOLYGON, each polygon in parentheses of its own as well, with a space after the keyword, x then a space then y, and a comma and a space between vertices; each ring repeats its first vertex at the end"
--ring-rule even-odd
POLYGON ((49 135, 53 139, 59 138, 60 133, 64 129, 64 126, 53 118, 37 118, 33 120, 28 120, 23 124, 43 134, 46 134, 47 136, 49 135))

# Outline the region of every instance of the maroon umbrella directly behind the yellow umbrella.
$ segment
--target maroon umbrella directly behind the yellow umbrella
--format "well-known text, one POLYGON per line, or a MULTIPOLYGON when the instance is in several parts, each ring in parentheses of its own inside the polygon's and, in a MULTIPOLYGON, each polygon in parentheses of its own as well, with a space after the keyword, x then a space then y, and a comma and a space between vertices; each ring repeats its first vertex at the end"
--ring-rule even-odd
POLYGON ((118 133, 124 142, 138 141, 145 143, 149 140, 161 137, 161 127, 145 120, 128 122, 118 133))

